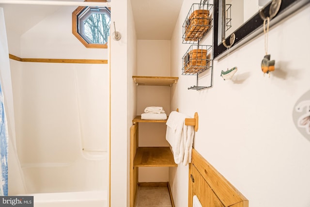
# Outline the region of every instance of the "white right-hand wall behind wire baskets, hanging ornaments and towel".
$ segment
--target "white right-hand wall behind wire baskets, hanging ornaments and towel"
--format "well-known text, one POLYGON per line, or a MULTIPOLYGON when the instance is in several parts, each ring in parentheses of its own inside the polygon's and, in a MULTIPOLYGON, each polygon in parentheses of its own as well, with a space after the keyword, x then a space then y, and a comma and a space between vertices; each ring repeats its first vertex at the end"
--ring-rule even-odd
MULTIPOLYGON (((249 200, 251 207, 310 206, 310 142, 295 128, 292 112, 310 89, 307 38, 310 6, 270 28, 268 52, 276 71, 263 77, 260 64, 264 37, 257 38, 214 63, 214 86, 203 91, 181 76, 182 23, 191 2, 183 4, 171 39, 171 76, 179 76, 171 90, 171 108, 199 113, 194 147, 249 200), (233 80, 221 70, 237 66, 233 80)), ((202 44, 205 42, 203 41, 202 44)), ((202 83, 203 84, 203 83, 202 83)), ((170 170, 177 207, 187 206, 188 168, 170 170)))

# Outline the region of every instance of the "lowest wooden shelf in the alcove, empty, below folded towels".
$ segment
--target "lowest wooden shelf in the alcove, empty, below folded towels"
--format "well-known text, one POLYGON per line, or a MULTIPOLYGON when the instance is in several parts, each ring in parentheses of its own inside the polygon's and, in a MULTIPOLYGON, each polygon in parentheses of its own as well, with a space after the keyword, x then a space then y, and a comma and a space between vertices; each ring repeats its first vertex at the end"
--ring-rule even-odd
POLYGON ((170 147, 138 147, 134 167, 177 167, 170 147))

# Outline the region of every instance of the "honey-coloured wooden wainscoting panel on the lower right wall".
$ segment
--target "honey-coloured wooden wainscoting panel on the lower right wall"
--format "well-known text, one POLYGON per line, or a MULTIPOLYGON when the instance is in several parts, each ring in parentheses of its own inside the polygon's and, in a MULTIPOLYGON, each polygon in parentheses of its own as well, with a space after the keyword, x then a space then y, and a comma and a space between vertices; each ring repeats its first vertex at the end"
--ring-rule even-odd
POLYGON ((188 207, 196 195, 203 207, 248 207, 248 199, 195 149, 189 164, 188 207))

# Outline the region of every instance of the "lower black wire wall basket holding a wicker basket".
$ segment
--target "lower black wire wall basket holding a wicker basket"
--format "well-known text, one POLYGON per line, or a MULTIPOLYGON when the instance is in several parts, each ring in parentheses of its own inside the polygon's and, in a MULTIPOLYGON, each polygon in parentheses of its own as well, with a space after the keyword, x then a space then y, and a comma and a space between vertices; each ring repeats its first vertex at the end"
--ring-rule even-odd
POLYGON ((182 75, 198 75, 212 67, 212 46, 191 45, 182 58, 182 75))

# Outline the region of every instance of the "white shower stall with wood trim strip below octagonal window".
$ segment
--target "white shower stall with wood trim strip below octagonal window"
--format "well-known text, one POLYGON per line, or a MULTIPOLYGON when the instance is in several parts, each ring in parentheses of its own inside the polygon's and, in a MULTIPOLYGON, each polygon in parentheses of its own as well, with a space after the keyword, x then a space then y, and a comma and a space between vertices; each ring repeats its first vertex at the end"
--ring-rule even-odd
MULTIPOLYGON (((9 49, 2 48, 1 55, 20 51, 14 55, 108 59, 107 50, 78 45, 67 18, 72 9, 58 9, 20 36, 8 31, 1 40, 8 39, 9 49)), ((9 128, 8 194, 33 195, 36 207, 107 206, 108 64, 8 58, 7 63, 1 84, 9 77, 3 90, 9 128)))

